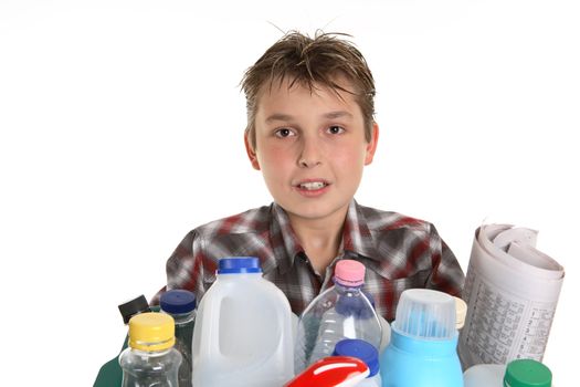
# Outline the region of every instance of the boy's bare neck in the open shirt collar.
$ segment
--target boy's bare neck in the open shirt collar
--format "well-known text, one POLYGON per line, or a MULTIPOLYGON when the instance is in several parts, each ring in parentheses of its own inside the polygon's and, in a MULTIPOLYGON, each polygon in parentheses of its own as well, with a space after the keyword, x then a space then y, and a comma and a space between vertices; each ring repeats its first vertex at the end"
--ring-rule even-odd
POLYGON ((324 220, 288 215, 294 233, 318 274, 324 275, 326 268, 338 255, 347 209, 324 220))

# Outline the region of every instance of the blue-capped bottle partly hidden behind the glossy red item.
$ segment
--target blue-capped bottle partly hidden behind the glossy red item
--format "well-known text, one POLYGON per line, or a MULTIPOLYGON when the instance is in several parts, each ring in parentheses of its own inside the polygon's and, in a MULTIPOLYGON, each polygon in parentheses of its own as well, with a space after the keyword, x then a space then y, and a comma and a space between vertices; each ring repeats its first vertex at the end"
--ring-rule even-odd
POLYGON ((333 356, 351 356, 365 362, 369 367, 369 375, 357 387, 381 387, 379 373, 379 352, 375 346, 358 338, 345 338, 337 343, 333 356))

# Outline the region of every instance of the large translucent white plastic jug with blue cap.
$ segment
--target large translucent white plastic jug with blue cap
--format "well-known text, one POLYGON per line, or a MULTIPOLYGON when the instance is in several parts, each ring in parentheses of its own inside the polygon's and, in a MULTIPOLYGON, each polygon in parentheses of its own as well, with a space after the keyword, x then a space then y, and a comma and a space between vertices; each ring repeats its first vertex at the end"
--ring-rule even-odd
POLYGON ((196 387, 272 387, 293 377, 288 300, 262 278, 257 258, 219 262, 193 328, 196 387))

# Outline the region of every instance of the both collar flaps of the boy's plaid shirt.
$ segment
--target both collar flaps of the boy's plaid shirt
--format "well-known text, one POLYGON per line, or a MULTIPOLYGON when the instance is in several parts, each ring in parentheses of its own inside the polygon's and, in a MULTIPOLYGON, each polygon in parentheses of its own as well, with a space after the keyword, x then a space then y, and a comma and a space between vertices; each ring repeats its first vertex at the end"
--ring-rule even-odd
MULTIPOLYGON (((292 229, 286 211, 275 202, 272 203, 271 208, 270 238, 278 270, 284 274, 294 265, 296 255, 304 253, 304 249, 292 229)), ((355 199, 348 206, 338 255, 344 258, 362 255, 379 261, 379 254, 375 248, 372 233, 367 226, 367 219, 355 199)))

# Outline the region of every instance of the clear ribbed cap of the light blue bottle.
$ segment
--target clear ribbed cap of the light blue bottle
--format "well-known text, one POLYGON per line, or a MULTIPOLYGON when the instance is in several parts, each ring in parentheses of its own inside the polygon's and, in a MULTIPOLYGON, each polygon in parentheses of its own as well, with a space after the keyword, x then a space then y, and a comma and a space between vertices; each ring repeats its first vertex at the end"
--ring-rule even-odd
POLYGON ((396 328, 420 338, 451 338, 456 334, 455 300, 429 289, 408 289, 397 305, 396 328))

